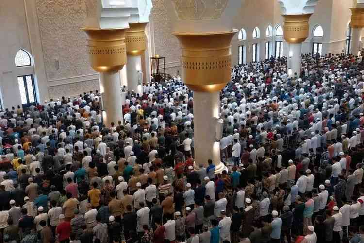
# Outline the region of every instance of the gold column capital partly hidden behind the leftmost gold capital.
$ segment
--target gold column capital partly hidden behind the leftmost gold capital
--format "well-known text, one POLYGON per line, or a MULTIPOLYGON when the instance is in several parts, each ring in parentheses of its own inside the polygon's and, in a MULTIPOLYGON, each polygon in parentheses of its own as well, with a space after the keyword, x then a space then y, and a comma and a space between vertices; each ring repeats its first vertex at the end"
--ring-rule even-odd
POLYGON ((125 34, 126 52, 128 55, 139 56, 147 49, 146 23, 129 23, 125 34))

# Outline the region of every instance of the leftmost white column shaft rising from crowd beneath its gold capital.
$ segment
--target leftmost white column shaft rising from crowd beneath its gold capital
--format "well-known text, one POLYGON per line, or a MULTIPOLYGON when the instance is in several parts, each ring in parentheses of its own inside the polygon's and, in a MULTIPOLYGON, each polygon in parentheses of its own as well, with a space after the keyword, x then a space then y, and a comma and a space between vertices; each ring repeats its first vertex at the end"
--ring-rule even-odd
POLYGON ((100 72, 100 92, 104 105, 102 113, 103 122, 106 127, 111 122, 117 124, 118 121, 123 122, 123 113, 121 106, 120 93, 120 74, 115 72, 100 72))

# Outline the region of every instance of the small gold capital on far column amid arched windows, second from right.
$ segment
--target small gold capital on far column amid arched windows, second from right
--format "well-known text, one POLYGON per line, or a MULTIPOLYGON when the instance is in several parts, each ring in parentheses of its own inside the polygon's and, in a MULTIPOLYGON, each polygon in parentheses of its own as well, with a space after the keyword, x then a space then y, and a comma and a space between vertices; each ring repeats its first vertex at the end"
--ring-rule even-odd
POLYGON ((309 35, 308 21, 312 14, 283 15, 283 35, 288 43, 302 43, 309 35))

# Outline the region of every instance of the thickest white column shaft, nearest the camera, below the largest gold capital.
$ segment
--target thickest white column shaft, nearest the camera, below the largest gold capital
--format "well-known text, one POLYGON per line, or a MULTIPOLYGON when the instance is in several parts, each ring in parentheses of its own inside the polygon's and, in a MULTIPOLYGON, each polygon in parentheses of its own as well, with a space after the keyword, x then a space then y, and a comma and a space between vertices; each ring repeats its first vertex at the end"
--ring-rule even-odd
POLYGON ((224 165, 220 160, 220 142, 215 139, 216 118, 220 113, 219 92, 195 91, 193 104, 195 164, 207 167, 207 160, 212 159, 216 166, 215 172, 221 172, 224 165))

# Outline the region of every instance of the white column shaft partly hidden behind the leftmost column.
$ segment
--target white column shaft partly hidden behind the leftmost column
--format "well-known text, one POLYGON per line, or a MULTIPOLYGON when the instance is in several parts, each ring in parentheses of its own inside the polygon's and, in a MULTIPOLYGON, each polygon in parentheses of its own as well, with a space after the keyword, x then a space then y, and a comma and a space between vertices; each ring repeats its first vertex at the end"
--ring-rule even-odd
POLYGON ((142 59, 140 56, 128 55, 128 63, 126 64, 126 72, 128 75, 128 91, 132 92, 134 90, 135 93, 140 96, 143 94, 143 77, 140 77, 140 73, 138 71, 142 70, 142 59), (139 79, 140 85, 139 85, 139 79))

